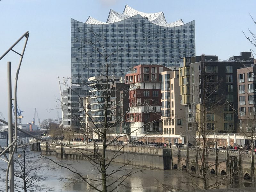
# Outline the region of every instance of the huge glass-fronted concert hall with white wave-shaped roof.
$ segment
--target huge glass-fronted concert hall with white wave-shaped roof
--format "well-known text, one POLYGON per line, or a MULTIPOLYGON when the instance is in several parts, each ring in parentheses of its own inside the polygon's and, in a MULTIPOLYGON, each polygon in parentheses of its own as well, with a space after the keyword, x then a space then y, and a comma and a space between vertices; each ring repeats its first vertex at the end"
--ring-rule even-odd
POLYGON ((71 19, 72 83, 100 75, 104 54, 116 76, 140 64, 179 66, 179 58, 195 56, 195 21, 167 23, 163 12, 144 13, 128 5, 123 13, 110 10, 106 22, 71 19))

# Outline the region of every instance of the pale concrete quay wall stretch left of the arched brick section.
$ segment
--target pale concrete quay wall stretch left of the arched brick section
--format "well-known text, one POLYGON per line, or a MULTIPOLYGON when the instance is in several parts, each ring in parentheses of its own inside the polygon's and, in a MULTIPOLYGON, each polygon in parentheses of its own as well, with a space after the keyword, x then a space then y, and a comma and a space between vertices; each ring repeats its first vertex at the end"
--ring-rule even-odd
MULTIPOLYGON (((97 159, 102 155, 102 147, 87 146, 61 146, 54 143, 41 143, 43 155, 56 155, 63 159, 97 159)), ((109 146, 106 150, 106 158, 116 163, 130 164, 134 167, 146 167, 150 169, 171 169, 171 149, 148 148, 140 146, 109 146), (166 155, 163 156, 163 150, 166 155), (115 157, 115 158, 113 158, 115 157)))

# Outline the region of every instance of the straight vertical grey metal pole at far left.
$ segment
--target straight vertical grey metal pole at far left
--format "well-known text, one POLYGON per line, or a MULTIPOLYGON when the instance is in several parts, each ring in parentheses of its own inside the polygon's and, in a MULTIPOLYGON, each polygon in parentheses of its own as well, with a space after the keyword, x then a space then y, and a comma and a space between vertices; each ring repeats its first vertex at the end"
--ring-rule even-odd
MULTIPOLYGON (((11 62, 7 62, 7 83, 8 83, 8 144, 12 145, 12 71, 11 71, 11 62)), ((9 186, 10 192, 14 192, 14 169, 13 169, 13 159, 12 159, 12 150, 13 147, 9 148, 9 186)))

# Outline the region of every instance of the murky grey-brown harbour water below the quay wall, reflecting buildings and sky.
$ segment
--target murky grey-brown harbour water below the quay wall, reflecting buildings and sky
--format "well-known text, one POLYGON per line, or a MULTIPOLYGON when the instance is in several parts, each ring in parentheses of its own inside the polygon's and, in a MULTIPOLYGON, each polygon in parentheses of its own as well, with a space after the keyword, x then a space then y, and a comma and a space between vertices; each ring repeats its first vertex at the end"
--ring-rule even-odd
MULTIPOLYGON (((0 139, 0 145, 4 146, 6 144, 5 139, 0 139)), ((20 149, 18 149, 20 150, 20 149)), ((18 151, 19 153, 19 151, 18 151)), ((40 154, 39 152, 30 152, 33 154, 40 154)), ((74 170, 78 170, 81 174, 84 175, 84 177, 88 178, 100 178, 100 175, 97 171, 95 171, 95 168, 92 166, 92 164, 89 161, 85 160, 62 160, 56 159, 55 156, 47 156, 52 158, 53 160, 57 160, 59 163, 66 163, 71 164, 74 170)), ((14 154, 14 158, 18 158, 18 154, 14 154)), ((68 171, 65 168, 58 168, 53 169, 56 167, 56 165, 49 164, 49 160, 40 159, 40 164, 44 170, 41 171, 41 174, 47 175, 47 181, 44 182, 44 185, 47 185, 49 187, 54 187, 54 191, 56 192, 80 192, 80 191, 90 191, 89 185, 87 185, 85 182, 76 182, 76 184, 73 183, 66 183, 64 181, 60 181, 62 177, 65 178, 72 178, 74 174, 72 174, 70 171, 68 171)), ((7 167, 7 164, 0 160, 0 166, 3 168, 7 167)), ((123 164, 115 164, 113 163, 108 172, 112 170, 117 170, 119 167, 123 166, 123 164)), ((133 172, 139 171, 132 176, 128 177, 125 180, 125 183, 123 186, 118 188, 118 191, 123 192, 150 192, 150 191, 159 191, 159 192, 166 192, 170 191, 170 189, 182 189, 182 190, 194 190, 199 189, 202 186, 202 181, 197 180, 185 171, 177 171, 177 170, 143 170, 140 172, 139 169, 133 169, 131 166, 125 166, 125 169, 115 175, 115 177, 120 177, 127 173, 130 170, 133 170, 133 172)), ((1 179, 5 178, 5 172, 0 170, 1 179)), ((210 176, 211 177, 211 176, 210 176)), ((212 176, 212 179, 209 179, 210 184, 214 184, 216 180, 223 180, 223 182, 226 182, 225 176, 222 176, 223 178, 218 177, 217 179, 212 176)), ((112 180, 108 180, 110 183, 112 180)), ((236 186, 229 186, 229 187, 244 187, 244 183, 240 182, 240 185, 236 186)), ((4 183, 0 182, 0 191, 1 189, 4 190, 4 183)), ((219 188, 227 188, 227 185, 220 185, 219 188)), ((91 190, 93 191, 93 190, 91 190)))

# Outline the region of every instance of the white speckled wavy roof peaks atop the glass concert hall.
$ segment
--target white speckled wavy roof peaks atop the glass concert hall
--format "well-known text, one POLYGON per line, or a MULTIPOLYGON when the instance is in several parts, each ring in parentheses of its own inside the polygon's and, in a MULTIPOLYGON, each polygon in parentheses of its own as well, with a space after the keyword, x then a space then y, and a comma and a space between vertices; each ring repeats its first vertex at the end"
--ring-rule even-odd
POLYGON ((115 12, 112 9, 110 9, 107 22, 102 22, 102 21, 96 20, 90 16, 85 21, 85 23, 94 24, 94 25, 114 23, 117 21, 128 19, 137 14, 140 14, 142 17, 147 18, 150 22, 152 22, 156 25, 160 25, 160 26, 164 26, 164 27, 175 27, 175 26, 184 25, 184 22, 181 19, 174 21, 172 23, 167 23, 165 20, 165 17, 164 17, 164 12, 144 13, 144 12, 140 12, 140 11, 133 9, 129 5, 125 5, 123 13, 115 12))

